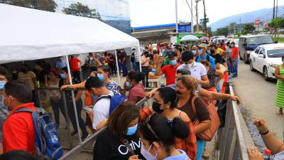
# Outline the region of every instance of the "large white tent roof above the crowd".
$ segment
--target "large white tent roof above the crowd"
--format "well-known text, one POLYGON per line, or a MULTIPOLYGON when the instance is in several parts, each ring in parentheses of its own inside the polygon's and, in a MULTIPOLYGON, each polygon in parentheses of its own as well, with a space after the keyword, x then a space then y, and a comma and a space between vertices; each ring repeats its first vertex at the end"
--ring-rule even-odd
POLYGON ((0 4, 0 63, 139 46, 94 18, 0 4))

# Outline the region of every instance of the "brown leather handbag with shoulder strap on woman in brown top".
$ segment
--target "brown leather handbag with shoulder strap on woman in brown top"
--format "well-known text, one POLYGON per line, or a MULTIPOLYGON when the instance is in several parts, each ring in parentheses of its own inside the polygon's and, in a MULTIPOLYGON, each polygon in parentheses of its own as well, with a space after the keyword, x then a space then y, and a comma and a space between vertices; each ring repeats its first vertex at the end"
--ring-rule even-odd
MULTIPOLYGON (((197 115, 196 112, 196 108, 195 108, 195 100, 197 99, 197 97, 193 97, 192 98, 192 109, 195 115, 197 115)), ((209 111, 210 114, 210 118, 211 118, 211 127, 207 130, 205 130, 204 132, 197 134, 198 137, 200 137, 200 139, 206 141, 206 142, 210 142, 212 140, 212 138, 214 137, 214 134, 217 132, 217 130, 219 129, 220 126, 220 119, 219 116, 217 114, 217 111, 215 110, 214 105, 212 105, 212 103, 209 103, 209 105, 207 106, 207 109, 209 111)), ((197 118, 195 119, 195 122, 193 122, 193 124, 195 126, 197 126, 198 124, 200 124, 200 120, 197 118)))

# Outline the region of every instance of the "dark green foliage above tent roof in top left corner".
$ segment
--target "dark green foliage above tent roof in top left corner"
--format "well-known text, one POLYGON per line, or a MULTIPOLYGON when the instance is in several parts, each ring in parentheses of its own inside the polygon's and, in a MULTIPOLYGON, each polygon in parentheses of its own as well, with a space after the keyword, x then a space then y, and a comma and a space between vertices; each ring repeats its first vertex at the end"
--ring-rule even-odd
POLYGON ((3 3, 52 12, 55 12, 58 6, 53 0, 4 0, 3 3))

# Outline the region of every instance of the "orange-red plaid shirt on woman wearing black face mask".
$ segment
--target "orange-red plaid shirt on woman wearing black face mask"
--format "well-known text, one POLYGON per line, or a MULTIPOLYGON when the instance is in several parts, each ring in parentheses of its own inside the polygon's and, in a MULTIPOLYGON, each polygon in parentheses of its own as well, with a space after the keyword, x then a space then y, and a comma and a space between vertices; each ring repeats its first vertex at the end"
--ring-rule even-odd
MULTIPOLYGON (((153 113, 148 107, 143 108, 140 110, 140 122, 146 121, 146 118, 151 116, 153 113)), ((187 153, 187 156, 190 159, 195 160, 197 155, 197 139, 195 134, 195 127, 191 121, 185 122, 190 129, 190 134, 188 134, 187 139, 178 139, 175 138, 175 148, 182 149, 187 153)))

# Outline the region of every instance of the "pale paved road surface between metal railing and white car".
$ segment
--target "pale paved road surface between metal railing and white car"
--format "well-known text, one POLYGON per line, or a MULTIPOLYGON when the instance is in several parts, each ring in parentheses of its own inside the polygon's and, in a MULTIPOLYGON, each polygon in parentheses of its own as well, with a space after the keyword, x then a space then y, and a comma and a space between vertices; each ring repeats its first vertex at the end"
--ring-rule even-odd
POLYGON ((266 119, 271 132, 283 140, 284 115, 275 114, 278 110, 274 105, 276 82, 266 82, 261 73, 251 72, 249 65, 243 61, 239 64, 239 78, 233 82, 234 90, 241 97, 251 118, 266 119))

